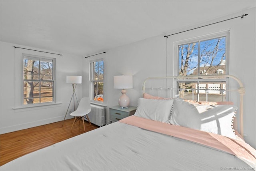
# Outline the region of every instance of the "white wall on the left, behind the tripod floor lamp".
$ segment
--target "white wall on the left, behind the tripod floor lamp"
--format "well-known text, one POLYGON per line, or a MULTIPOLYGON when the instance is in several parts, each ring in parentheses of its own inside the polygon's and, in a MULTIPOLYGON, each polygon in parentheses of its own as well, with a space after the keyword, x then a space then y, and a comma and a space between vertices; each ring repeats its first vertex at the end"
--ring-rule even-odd
MULTIPOLYGON (((0 133, 62 121, 72 96, 72 86, 71 84, 66 84, 66 76, 82 75, 82 57, 70 54, 58 56, 18 49, 13 46, 49 52, 47 50, 0 42, 0 133), (21 68, 20 72, 22 72, 22 53, 56 58, 56 98, 59 104, 13 109, 20 107, 17 103, 17 99, 20 99, 20 92, 17 92, 17 87, 22 87, 22 81, 17 81, 20 80, 20 75, 16 72, 19 66, 21 68)), ((82 85, 77 85, 76 90, 77 96, 80 99, 82 97, 82 85)), ((72 105, 70 109, 72 109, 72 105)), ((71 118, 70 115, 67 115, 67 118, 71 118)))

